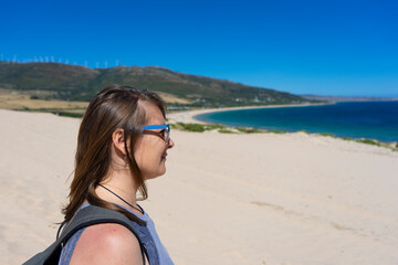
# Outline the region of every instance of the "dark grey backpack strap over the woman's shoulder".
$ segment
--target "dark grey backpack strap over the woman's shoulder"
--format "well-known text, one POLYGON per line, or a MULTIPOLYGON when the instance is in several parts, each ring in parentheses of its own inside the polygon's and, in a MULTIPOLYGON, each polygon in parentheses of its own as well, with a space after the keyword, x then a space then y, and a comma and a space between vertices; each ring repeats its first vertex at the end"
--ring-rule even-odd
MULTIPOLYGON (((64 227, 61 235, 52 245, 50 245, 44 252, 33 256, 23 265, 57 264, 62 247, 66 244, 69 239, 71 239, 74 233, 86 226, 101 223, 117 223, 124 225, 129 231, 132 231, 132 233, 138 240, 143 255, 143 264, 145 265, 145 245, 140 242, 138 234, 132 224, 132 221, 123 213, 94 205, 88 205, 81 209, 72 219, 72 221, 66 225, 66 227, 64 227)), ((62 229, 62 226, 60 229, 62 229)))

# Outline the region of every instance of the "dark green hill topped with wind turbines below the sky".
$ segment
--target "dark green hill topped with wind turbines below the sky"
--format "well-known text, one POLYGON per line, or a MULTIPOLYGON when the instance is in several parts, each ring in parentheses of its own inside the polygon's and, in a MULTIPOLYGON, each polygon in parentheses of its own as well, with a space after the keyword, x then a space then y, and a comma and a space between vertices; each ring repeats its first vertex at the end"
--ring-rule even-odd
MULTIPOLYGON (((44 99, 90 100, 97 92, 112 84, 132 85, 167 93, 185 99, 185 105, 191 107, 318 102, 290 93, 184 74, 155 66, 94 70, 59 63, 0 62, 0 88, 45 91, 44 99)), ((181 105, 181 103, 175 105, 181 105)))

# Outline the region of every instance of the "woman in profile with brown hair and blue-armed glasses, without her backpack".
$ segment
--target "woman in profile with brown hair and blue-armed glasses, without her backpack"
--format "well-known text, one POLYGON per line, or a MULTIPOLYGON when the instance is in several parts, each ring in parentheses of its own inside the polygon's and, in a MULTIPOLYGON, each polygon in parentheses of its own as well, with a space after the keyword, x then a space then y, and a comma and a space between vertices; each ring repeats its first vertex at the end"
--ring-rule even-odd
MULTIPOLYGON (((172 264, 154 222, 137 204, 147 194, 145 181, 166 172, 167 150, 174 147, 165 124, 166 105, 149 91, 112 86, 100 92, 83 117, 65 221, 92 204, 128 216, 138 230, 149 264, 172 264), (143 225, 146 224, 146 225, 143 225)), ((115 223, 76 232, 62 250, 59 264, 143 264, 137 237, 115 223)))

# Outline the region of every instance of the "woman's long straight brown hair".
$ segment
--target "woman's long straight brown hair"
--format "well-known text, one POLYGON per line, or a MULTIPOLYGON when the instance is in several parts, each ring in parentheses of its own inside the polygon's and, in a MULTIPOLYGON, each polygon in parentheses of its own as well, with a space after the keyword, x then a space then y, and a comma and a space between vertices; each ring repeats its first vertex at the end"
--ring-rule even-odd
POLYGON ((156 93, 132 86, 106 87, 90 103, 78 130, 74 178, 69 194, 70 202, 62 210, 66 222, 73 218, 83 201, 87 200, 92 205, 116 210, 143 223, 134 214, 102 200, 95 193, 95 188, 104 180, 111 166, 112 134, 117 128, 122 128, 132 177, 138 187, 140 200, 148 198, 145 180, 133 155, 135 144, 143 134, 142 127, 148 118, 139 102, 154 104, 166 117, 166 104, 156 93), (129 148, 127 148, 127 139, 130 142, 129 148))

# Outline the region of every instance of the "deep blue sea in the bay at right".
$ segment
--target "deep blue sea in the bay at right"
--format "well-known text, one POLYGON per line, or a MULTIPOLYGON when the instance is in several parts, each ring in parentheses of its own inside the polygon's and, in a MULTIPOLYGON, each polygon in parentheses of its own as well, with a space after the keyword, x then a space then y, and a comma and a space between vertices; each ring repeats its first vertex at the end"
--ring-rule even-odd
POLYGON ((337 137, 398 141, 398 102, 250 108, 201 114, 205 123, 268 130, 327 132, 337 137))

